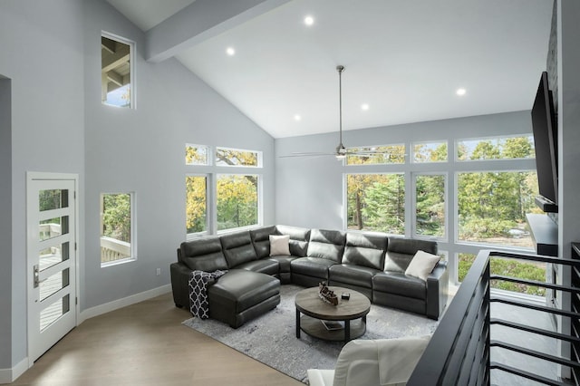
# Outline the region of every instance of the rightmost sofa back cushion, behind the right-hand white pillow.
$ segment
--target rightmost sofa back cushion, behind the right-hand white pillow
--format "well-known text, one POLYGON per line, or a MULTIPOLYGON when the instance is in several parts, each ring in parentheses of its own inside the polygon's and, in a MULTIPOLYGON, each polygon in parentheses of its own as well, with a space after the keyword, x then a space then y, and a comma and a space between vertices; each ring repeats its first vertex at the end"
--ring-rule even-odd
POLYGON ((384 270, 404 273, 417 251, 437 255, 437 242, 414 238, 389 237, 384 270))

